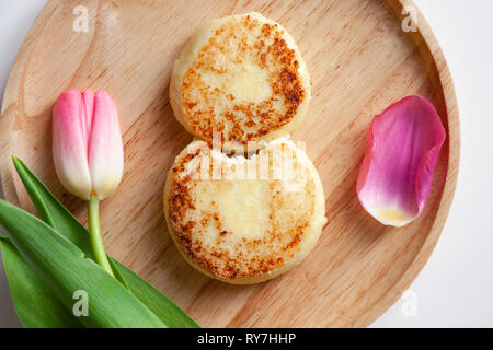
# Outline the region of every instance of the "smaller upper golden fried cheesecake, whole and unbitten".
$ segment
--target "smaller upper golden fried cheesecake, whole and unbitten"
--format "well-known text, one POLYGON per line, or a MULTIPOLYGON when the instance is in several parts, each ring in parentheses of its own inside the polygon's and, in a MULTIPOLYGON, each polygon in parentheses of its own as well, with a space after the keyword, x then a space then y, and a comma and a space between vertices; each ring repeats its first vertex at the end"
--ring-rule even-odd
POLYGON ((256 12, 214 20, 175 61, 170 102, 196 138, 225 149, 296 129, 308 110, 310 77, 294 38, 256 12))

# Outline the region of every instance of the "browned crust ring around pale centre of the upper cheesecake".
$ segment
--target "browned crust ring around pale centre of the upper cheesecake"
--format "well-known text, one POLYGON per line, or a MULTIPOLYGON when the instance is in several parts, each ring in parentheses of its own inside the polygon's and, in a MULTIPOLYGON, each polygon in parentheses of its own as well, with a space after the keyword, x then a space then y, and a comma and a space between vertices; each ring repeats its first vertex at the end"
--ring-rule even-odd
POLYGON ((294 121, 306 112, 303 107, 300 113, 300 106, 308 102, 310 86, 305 63, 285 30, 246 14, 230 18, 211 34, 176 82, 187 129, 206 141, 218 132, 223 142, 245 144, 268 139, 291 122, 298 125, 294 121), (270 94, 261 101, 244 101, 231 90, 229 79, 234 80, 236 70, 245 63, 267 74, 270 94), (205 77, 220 83, 210 84, 205 77))

